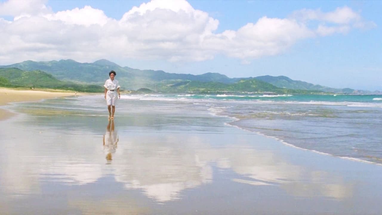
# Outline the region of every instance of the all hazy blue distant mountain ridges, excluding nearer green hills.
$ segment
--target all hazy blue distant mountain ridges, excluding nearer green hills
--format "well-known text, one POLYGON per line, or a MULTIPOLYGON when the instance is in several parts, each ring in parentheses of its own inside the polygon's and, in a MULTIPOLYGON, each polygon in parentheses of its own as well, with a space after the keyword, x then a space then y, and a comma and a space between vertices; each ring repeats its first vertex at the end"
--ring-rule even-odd
MULTIPOLYGON (((121 67, 118 64, 105 59, 97 60, 94 63, 79 63, 74 60, 53 60, 48 62, 34 62, 27 60, 18 64, 0 66, 0 68, 19 68, 25 71, 40 70, 61 81, 73 81, 82 84, 95 84, 102 86, 108 78, 108 72, 117 72, 117 80, 123 89, 136 90, 148 88, 154 91, 174 89, 180 90, 186 86, 202 85, 206 82, 217 82, 222 86, 228 86, 242 80, 253 80, 250 78, 228 78, 220 73, 204 73, 202 75, 191 75, 181 73, 167 73, 162 70, 139 70, 130 67, 121 67), (223 85, 226 84, 226 85, 223 85)), ((304 81, 291 80, 285 76, 259 76, 256 80, 264 81, 278 88, 294 90, 313 90, 333 93, 352 93, 350 88, 335 89, 321 85, 313 85, 304 81)), ((219 84, 218 84, 219 85, 219 84)), ((230 86, 233 87, 233 86, 230 86)))

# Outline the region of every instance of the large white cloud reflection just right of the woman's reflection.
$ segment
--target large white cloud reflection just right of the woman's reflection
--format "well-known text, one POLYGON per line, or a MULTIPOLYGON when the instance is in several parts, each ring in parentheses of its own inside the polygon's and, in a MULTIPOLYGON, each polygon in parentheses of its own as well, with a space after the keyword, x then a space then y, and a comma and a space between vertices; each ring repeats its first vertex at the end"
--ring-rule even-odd
POLYGON ((159 202, 180 198, 180 192, 212 182, 212 167, 198 158, 197 137, 177 135, 131 138, 124 143, 123 158, 113 165, 115 179, 126 189, 141 189, 159 202), (181 142, 181 144, 179 144, 181 142))

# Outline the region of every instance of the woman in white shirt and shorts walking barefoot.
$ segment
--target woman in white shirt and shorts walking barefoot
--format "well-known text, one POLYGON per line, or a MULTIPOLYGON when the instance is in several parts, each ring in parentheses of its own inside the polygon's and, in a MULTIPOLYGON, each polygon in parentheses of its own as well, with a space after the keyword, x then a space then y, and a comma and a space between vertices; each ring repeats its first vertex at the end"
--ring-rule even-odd
POLYGON ((109 111, 109 119, 114 119, 115 103, 117 98, 121 98, 118 81, 115 79, 117 74, 112 70, 109 72, 110 79, 105 81, 105 99, 107 103, 107 109, 109 111), (118 93, 118 95, 117 95, 118 93), (117 97, 118 96, 118 97, 117 97))

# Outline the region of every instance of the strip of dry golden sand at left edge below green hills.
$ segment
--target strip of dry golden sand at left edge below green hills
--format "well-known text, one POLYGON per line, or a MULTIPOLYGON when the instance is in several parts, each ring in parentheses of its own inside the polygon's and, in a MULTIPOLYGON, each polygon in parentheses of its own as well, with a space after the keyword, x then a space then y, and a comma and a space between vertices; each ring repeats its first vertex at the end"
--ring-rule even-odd
MULTIPOLYGON (((76 93, 78 94, 78 93, 76 93)), ((21 101, 39 101, 41 99, 51 99, 64 96, 73 96, 74 92, 62 92, 62 91, 39 91, 39 90, 16 90, 9 88, 0 88, 0 120, 8 119, 13 114, 5 109, 1 109, 4 106, 12 102, 21 101)))

